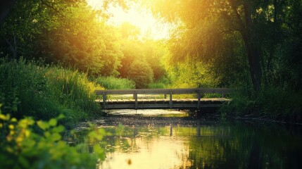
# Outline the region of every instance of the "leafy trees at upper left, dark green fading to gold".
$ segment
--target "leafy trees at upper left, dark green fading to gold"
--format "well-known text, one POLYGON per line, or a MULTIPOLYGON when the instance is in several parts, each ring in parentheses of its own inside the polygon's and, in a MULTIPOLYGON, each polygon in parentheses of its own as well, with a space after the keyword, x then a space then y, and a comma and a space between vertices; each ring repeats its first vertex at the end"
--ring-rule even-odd
POLYGON ((17 1, 1 24, 0 51, 10 58, 60 62, 89 75, 118 75, 118 34, 100 20, 103 14, 86 1, 17 1))

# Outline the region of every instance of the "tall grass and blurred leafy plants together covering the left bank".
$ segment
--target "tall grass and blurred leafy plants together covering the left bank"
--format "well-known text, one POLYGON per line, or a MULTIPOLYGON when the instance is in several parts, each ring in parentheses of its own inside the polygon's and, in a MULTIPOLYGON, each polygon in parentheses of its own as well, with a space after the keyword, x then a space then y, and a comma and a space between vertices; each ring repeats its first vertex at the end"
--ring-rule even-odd
MULTIPOLYGON (((24 59, 1 58, 0 79, 0 168, 96 168, 103 149, 69 146, 63 133, 100 114, 94 90, 103 87, 77 70, 24 59)), ((100 142, 100 133, 87 142, 100 142)))

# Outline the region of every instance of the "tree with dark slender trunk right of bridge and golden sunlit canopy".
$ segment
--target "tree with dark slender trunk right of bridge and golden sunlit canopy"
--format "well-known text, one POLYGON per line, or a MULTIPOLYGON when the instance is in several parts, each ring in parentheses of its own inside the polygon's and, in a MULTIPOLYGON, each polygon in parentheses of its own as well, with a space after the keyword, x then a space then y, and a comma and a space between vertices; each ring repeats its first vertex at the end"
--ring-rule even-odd
MULTIPOLYGON (((265 5, 269 6, 271 3, 265 5)), ((256 27, 257 21, 261 19, 257 15, 258 10, 264 6, 261 1, 180 0, 175 3, 172 0, 156 0, 145 1, 145 4, 166 20, 181 22, 180 35, 175 35, 176 38, 172 42, 182 44, 183 48, 179 49, 183 50, 180 58, 187 56, 184 52, 191 56, 199 56, 203 60, 213 58, 216 51, 220 50, 219 41, 224 36, 239 32, 245 46, 253 88, 256 92, 260 91, 262 46, 258 42, 256 27), (192 35, 196 38, 182 37, 186 32, 194 32, 192 35)))

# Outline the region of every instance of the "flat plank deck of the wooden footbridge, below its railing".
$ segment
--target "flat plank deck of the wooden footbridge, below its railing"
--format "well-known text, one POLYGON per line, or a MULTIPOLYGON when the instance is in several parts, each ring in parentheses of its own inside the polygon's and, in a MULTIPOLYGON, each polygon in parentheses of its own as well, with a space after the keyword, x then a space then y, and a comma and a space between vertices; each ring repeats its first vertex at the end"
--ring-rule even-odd
MULTIPOLYGON (((102 99, 96 100, 101 105, 102 99)), ((215 108, 219 107, 230 99, 225 98, 201 98, 199 99, 107 99, 104 109, 146 109, 146 108, 179 108, 179 109, 191 109, 191 108, 215 108)))

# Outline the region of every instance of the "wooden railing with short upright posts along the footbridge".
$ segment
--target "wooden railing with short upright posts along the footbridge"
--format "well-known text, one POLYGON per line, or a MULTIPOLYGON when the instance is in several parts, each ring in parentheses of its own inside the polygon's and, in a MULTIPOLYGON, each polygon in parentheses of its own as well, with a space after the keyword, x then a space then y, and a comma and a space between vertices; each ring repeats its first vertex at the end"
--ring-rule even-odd
POLYGON ((201 102, 202 94, 225 94, 232 92, 233 89, 229 88, 194 88, 194 89, 109 89, 109 90, 96 90, 97 95, 103 97, 103 108, 106 106, 107 95, 109 94, 133 94, 133 99, 135 100, 135 108, 138 106, 138 95, 139 94, 163 94, 165 96, 169 95, 170 108, 172 108, 172 96, 173 94, 196 94, 196 99, 198 99, 198 108, 201 102))

